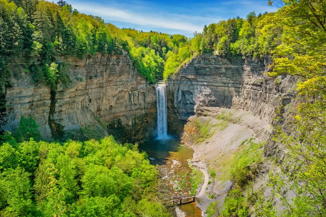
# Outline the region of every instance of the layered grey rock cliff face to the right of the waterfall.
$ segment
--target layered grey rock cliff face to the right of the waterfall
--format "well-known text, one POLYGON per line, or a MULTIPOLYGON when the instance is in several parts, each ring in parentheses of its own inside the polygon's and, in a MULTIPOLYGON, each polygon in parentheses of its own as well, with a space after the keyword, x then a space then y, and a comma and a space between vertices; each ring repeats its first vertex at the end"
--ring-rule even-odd
POLYGON ((272 122, 275 108, 291 102, 293 77, 264 75, 271 59, 220 58, 204 54, 167 80, 168 122, 172 133, 182 132, 187 118, 203 107, 223 107, 251 111, 272 122))

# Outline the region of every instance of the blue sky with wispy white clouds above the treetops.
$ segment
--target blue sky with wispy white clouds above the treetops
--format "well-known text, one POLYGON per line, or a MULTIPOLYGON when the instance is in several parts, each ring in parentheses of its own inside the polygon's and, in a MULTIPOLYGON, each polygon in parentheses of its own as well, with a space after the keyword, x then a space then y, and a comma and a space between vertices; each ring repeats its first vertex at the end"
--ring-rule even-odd
POLYGON ((276 11, 267 0, 66 0, 79 12, 100 16, 117 27, 182 34, 202 32, 203 26, 255 11, 276 11))

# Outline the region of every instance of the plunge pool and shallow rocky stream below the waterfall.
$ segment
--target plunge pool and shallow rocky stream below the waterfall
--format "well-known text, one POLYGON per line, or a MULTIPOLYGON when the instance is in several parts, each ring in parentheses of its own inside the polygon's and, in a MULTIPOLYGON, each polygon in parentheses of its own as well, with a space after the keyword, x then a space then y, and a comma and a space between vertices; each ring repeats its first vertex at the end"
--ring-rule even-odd
MULTIPOLYGON (((147 152, 152 165, 157 165, 163 181, 169 186, 170 198, 179 195, 182 197, 190 196, 191 167, 189 162, 194 153, 190 147, 181 144, 175 138, 168 138, 141 143, 139 149, 147 152), (175 191, 176 187, 178 187, 177 191, 175 191)), ((196 203, 184 204, 177 208, 178 210, 175 208, 171 210, 175 217, 201 217, 201 210, 196 203)))

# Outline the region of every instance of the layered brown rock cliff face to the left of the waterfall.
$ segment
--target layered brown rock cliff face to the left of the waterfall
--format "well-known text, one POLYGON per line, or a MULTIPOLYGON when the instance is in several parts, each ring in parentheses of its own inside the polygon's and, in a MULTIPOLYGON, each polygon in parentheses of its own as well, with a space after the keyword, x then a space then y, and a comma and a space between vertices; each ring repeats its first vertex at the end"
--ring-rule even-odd
POLYGON ((127 133, 129 141, 143 141, 153 135, 155 88, 138 74, 126 52, 58 61, 68 65, 72 83, 68 87, 60 84, 56 93, 35 85, 27 74, 19 75, 19 79, 11 76, 0 120, 2 130, 14 131, 24 115, 41 125, 44 139, 59 138, 67 130, 98 124, 98 120, 108 123, 111 132, 127 133))

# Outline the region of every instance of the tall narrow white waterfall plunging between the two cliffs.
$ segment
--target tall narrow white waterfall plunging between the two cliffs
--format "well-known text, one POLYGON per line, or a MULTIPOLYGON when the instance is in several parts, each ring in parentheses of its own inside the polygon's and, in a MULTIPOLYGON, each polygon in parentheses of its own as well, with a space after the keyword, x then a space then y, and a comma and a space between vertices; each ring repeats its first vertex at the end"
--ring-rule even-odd
POLYGON ((157 137, 168 137, 168 108, 166 85, 157 84, 156 87, 156 104, 157 104, 157 137))

